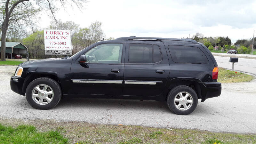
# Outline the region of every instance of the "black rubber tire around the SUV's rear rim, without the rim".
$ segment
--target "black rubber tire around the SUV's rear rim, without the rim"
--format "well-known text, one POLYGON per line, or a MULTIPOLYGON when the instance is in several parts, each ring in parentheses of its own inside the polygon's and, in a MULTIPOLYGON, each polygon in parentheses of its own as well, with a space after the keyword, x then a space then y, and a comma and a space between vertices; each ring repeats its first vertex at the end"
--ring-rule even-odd
POLYGON ((197 102, 198 102, 198 98, 197 98, 196 92, 192 88, 190 88, 186 85, 179 85, 179 86, 172 88, 172 90, 168 93, 168 96, 167 96, 168 107, 170 108, 170 110, 173 113, 178 114, 178 115, 188 115, 188 114, 192 113, 196 109, 197 102), (188 92, 188 93, 190 93, 191 97, 193 98, 192 105, 187 110, 180 110, 180 109, 176 108, 176 106, 174 104, 174 99, 175 99, 176 95, 180 92, 188 92))

